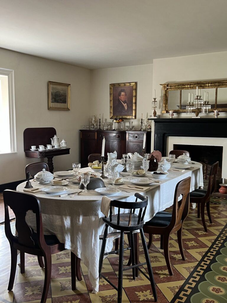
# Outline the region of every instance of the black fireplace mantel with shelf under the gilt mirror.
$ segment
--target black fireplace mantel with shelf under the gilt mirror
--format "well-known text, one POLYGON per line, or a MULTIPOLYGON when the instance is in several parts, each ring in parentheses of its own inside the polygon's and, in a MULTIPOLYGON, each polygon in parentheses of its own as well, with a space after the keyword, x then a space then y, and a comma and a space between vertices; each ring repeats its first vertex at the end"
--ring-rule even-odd
POLYGON ((149 119, 155 123, 154 149, 166 156, 167 137, 227 138, 227 118, 149 119))

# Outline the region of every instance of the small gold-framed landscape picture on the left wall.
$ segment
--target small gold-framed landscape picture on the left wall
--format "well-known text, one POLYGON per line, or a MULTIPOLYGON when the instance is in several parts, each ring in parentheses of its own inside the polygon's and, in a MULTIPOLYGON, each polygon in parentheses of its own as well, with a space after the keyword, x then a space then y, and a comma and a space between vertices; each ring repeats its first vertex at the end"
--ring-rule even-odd
POLYGON ((70 84, 48 81, 48 109, 70 110, 70 84))

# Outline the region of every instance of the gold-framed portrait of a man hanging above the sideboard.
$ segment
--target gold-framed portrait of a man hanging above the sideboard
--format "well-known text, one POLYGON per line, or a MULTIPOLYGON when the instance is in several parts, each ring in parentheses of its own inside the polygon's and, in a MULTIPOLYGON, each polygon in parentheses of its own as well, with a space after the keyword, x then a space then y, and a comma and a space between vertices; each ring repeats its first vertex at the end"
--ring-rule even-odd
POLYGON ((110 118, 136 118, 136 82, 110 84, 110 118))

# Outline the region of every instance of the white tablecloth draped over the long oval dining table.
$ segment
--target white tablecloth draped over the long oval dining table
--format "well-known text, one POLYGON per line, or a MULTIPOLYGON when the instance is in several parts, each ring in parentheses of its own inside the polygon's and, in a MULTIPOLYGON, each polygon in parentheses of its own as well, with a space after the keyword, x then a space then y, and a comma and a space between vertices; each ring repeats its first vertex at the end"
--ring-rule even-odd
MULTIPOLYGON (((179 181, 191 177, 190 191, 203 186, 202 164, 195 161, 192 163, 190 164, 189 162, 189 168, 183 171, 169 171, 166 178, 160 179, 160 183, 151 183, 145 191, 136 187, 116 193, 110 198, 120 201, 135 201, 134 194, 136 192, 147 196, 148 205, 144 221, 149 221, 157 212, 173 205, 175 187, 179 181)), ((88 171, 94 173, 90 167, 81 168, 80 170, 81 173, 88 171)), ((101 175, 101 173, 95 174, 101 175)), ((105 175, 108 176, 108 173, 105 172, 105 175)), ((121 172, 120 175, 124 185, 132 184, 131 181, 136 178, 133 176, 130 179, 127 172, 121 172)), ((145 177, 156 180, 149 171, 145 177)), ((142 179, 143 177, 140 178, 142 179)), ((70 179, 67 181, 70 181, 70 179)), ((111 187, 109 178, 103 179, 103 181, 106 187, 111 187)), ((152 182, 152 180, 150 181, 152 182)), ((44 186, 34 180, 31 180, 31 184, 34 188, 44 186)), ((78 186, 79 184, 69 182, 67 185, 69 188, 68 193, 78 192, 78 186)), ((120 184, 115 186, 119 188, 120 184)), ((24 187, 25 182, 19 184, 16 190, 24 192, 24 187)), ((97 292, 99 290, 98 265, 101 249, 99 236, 103 234, 105 228, 105 223, 102 220, 104 214, 100 210, 103 195, 95 190, 90 190, 86 193, 82 192, 81 195, 73 194, 61 197, 47 194, 43 191, 32 194, 39 199, 41 204, 44 233, 56 235, 58 240, 65 244, 66 249, 74 252, 83 261, 84 265, 87 266, 93 292, 97 292)), ((27 213, 26 221, 35 230, 35 217, 31 211, 27 213)), ((111 232, 111 228, 109 231, 111 232)), ((106 251, 111 251, 113 239, 107 240, 106 251)))

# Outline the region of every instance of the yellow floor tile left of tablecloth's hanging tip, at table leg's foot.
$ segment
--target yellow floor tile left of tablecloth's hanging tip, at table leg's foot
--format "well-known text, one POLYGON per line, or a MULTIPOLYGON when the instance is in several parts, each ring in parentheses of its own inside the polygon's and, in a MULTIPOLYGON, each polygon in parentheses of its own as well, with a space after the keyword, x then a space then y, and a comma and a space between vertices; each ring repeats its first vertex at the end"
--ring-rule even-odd
POLYGON ((75 291, 72 290, 71 278, 51 279, 52 298, 87 292, 84 277, 82 277, 82 281, 76 281, 76 287, 77 289, 75 291))

